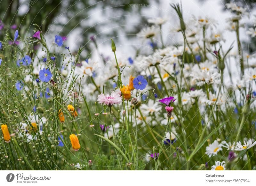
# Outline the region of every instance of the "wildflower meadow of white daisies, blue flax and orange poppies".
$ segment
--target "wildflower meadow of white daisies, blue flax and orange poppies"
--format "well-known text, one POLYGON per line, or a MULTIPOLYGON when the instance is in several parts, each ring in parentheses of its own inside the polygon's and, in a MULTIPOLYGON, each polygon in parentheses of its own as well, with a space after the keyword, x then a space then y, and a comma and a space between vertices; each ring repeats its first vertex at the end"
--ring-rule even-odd
POLYGON ((133 53, 115 32, 71 47, 32 17, 0 20, 0 169, 256 170, 256 54, 241 39, 256 19, 222 6, 228 19, 170 1, 171 16, 138 26, 133 53))

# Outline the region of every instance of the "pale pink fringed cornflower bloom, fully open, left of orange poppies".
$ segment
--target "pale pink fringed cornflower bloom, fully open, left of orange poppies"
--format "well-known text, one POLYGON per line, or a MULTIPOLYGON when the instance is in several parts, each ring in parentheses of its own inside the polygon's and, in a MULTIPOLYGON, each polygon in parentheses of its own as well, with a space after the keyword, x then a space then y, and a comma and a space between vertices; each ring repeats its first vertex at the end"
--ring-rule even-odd
POLYGON ((109 94, 104 95, 103 93, 101 93, 100 95, 98 95, 97 101, 100 104, 108 105, 109 107, 111 107, 114 104, 121 103, 122 97, 118 92, 112 92, 110 95, 109 94))

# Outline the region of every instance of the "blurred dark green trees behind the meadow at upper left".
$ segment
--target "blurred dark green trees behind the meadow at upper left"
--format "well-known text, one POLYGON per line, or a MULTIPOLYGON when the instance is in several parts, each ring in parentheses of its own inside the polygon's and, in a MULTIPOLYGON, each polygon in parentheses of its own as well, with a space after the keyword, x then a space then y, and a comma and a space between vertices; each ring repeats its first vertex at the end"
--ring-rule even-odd
MULTIPOLYGON (((129 4, 148 3, 149 0, 5 0, 1 1, 0 6, 1 24, 5 28, 16 25, 20 35, 33 32, 33 24, 40 26, 46 35, 67 36, 75 32, 79 36, 79 40, 76 41, 79 46, 86 45, 90 36, 97 33, 98 38, 116 36, 122 29, 128 36, 138 33, 140 26, 135 24, 129 33, 125 29, 125 24, 129 14, 132 14, 132 11, 140 14, 143 6, 134 7, 129 4), (109 27, 111 32, 103 32, 104 28, 109 27)), ((143 22, 142 19, 145 18, 139 16, 136 19, 143 22)), ((14 30, 11 30, 10 35, 13 35, 14 30)), ((0 34, 3 38, 4 32, 0 34)), ((86 49, 89 52, 90 49, 86 49)))

